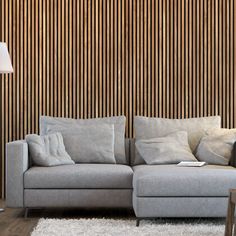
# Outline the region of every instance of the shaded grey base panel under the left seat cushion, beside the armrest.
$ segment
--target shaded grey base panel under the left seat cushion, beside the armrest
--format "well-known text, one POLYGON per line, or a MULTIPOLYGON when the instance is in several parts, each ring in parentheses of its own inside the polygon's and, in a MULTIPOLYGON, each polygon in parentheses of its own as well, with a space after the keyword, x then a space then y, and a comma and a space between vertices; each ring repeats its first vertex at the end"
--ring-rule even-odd
POLYGON ((132 208, 132 189, 25 189, 25 207, 132 208))

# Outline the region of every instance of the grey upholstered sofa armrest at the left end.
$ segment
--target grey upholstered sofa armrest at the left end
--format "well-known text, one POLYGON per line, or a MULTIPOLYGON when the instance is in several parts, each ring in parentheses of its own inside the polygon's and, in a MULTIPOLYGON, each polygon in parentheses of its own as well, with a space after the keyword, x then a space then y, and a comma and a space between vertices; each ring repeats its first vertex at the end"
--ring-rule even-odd
POLYGON ((28 145, 24 140, 6 145, 6 205, 24 207, 24 172, 29 168, 28 145))

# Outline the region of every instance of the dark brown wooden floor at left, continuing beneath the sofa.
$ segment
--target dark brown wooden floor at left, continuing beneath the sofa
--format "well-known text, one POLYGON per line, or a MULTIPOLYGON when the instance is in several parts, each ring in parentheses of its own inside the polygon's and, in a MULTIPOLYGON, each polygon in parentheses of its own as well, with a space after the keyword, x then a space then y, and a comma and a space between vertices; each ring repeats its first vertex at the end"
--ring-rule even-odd
MULTIPOLYGON (((5 208, 5 202, 0 200, 0 208, 5 208)), ((5 208, 0 213, 0 236, 27 236, 30 235, 40 218, 123 218, 132 217, 132 210, 109 209, 32 209, 27 219, 24 218, 22 209, 5 208)), ((134 221, 135 224, 135 221, 134 221)))

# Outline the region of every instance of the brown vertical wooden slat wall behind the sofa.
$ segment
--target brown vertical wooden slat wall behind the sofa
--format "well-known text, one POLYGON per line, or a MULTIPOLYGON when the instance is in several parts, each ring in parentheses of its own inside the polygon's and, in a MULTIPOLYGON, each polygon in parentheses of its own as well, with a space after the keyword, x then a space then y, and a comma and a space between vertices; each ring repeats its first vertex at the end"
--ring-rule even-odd
MULTIPOLYGON (((236 118, 233 0, 1 0, 5 143, 38 133, 39 115, 236 118)), ((2 184, 4 191, 4 185, 2 184)))

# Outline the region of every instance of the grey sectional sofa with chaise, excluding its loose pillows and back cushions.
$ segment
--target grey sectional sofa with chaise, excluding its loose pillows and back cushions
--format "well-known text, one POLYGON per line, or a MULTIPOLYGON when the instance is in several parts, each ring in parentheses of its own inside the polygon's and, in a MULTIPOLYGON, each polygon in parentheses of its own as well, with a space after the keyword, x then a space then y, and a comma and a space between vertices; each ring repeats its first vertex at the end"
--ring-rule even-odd
POLYGON ((135 163, 134 140, 126 139, 125 164, 31 165, 25 141, 7 144, 6 205, 133 208, 140 219, 224 217, 236 169, 135 163))

